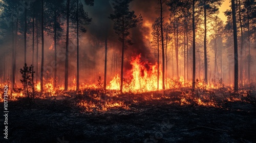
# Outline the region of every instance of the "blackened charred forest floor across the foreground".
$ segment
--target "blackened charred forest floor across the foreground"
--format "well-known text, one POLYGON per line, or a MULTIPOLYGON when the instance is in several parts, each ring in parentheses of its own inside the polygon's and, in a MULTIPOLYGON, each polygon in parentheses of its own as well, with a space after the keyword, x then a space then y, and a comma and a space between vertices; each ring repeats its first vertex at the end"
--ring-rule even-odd
POLYGON ((77 106, 78 96, 11 101, 8 139, 0 142, 256 142, 256 108, 249 103, 218 108, 174 99, 132 102, 133 96, 141 94, 119 95, 129 109, 92 112, 77 106))

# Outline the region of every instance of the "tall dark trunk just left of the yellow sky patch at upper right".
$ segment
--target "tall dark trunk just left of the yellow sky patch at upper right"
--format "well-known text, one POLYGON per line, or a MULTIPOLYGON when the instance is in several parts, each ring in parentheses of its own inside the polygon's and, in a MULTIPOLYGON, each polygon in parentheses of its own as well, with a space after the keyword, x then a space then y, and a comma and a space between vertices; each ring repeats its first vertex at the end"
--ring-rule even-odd
POLYGON ((208 83, 207 80, 207 48, 206 48, 206 32, 207 32, 207 26, 206 26, 206 0, 204 0, 204 80, 205 83, 208 83))

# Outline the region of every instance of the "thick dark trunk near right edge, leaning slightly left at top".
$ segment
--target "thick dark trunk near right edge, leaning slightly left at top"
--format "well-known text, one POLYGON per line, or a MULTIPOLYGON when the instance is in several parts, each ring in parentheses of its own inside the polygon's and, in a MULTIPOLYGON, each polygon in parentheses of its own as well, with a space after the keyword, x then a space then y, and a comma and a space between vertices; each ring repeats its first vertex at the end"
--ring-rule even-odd
POLYGON ((236 6, 234 0, 231 0, 233 38, 234 38, 234 91, 238 91, 238 38, 237 38, 237 21, 236 6))

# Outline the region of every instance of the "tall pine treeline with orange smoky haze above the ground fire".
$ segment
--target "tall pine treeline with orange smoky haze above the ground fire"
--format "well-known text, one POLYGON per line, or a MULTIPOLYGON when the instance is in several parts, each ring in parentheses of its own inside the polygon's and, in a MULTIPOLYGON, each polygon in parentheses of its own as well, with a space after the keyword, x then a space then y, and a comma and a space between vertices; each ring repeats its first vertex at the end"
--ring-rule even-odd
POLYGON ((19 86, 19 69, 27 63, 34 66, 32 81, 40 82, 41 91, 50 80, 54 88, 79 90, 100 76, 106 88, 120 74, 122 92, 131 57, 141 54, 162 65, 158 83, 183 77, 192 83, 222 81, 237 90, 256 80, 256 3, 232 0, 225 22, 218 16, 222 3, 0 1, 0 83, 19 86))

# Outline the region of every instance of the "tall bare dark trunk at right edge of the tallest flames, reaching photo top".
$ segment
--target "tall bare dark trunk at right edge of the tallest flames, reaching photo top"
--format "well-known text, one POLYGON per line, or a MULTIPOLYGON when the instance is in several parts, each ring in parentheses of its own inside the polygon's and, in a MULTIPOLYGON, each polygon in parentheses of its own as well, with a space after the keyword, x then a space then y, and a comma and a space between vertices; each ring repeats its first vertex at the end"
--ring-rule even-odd
POLYGON ((160 6, 161 6, 161 22, 160 22, 160 25, 161 25, 161 36, 162 36, 162 59, 163 59, 163 67, 162 67, 162 84, 163 84, 163 91, 165 90, 165 84, 164 84, 164 44, 163 44, 163 2, 162 0, 160 0, 160 6))

